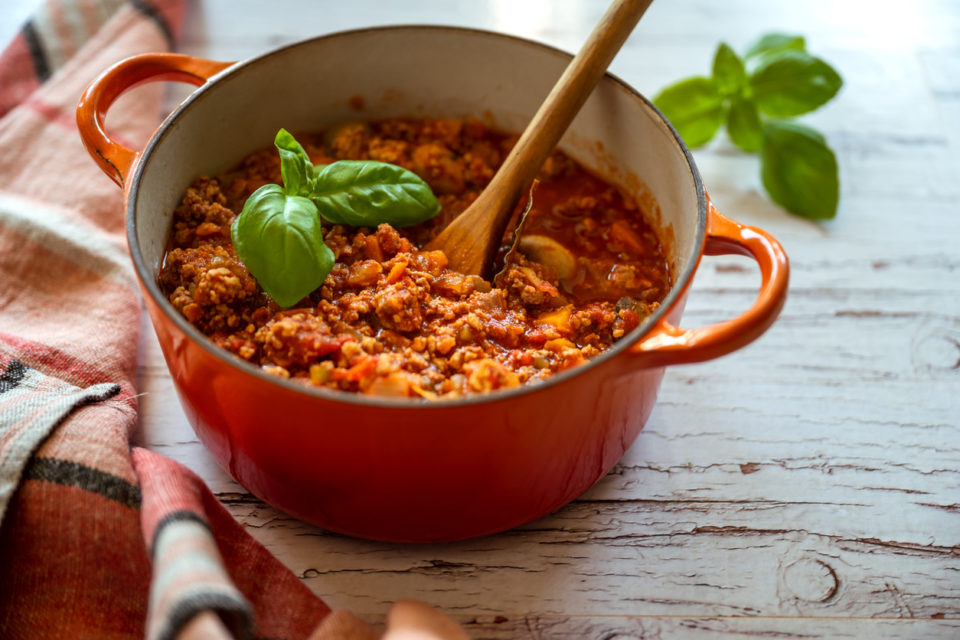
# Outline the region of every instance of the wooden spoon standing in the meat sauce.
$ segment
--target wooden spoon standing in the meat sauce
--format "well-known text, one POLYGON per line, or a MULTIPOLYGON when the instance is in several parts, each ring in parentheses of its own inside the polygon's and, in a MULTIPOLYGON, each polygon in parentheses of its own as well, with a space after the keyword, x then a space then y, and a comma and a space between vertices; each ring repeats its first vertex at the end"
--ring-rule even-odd
POLYGON ((510 214, 653 0, 614 0, 479 197, 426 249, 449 268, 490 276, 510 214))

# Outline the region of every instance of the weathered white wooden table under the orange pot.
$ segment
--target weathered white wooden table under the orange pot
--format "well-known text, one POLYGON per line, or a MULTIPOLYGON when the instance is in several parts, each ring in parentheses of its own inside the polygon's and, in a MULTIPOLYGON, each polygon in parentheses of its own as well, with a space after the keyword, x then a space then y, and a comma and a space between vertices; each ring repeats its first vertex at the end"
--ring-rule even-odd
MULTIPOLYGON (((203 0, 180 50, 242 59, 441 23, 572 51, 605 4, 203 0)), ((805 35, 846 81, 806 118, 837 152, 839 214, 787 215, 722 137, 696 152, 718 207, 786 246, 788 303, 759 342, 671 369, 636 444, 571 505, 428 546, 298 522, 216 467, 146 320, 138 443, 200 473, 314 592, 370 621, 417 598, 477 638, 960 637, 960 5, 657 0, 612 70, 653 95, 706 73, 719 40, 743 51, 767 31, 805 35)), ((758 282, 748 261, 705 260, 685 324, 737 314, 758 282)))

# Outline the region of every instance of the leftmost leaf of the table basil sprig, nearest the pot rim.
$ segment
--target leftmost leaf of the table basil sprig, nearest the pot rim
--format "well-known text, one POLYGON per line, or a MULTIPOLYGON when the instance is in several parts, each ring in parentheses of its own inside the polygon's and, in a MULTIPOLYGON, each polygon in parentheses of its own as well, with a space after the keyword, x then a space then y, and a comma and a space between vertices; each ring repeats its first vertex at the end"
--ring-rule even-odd
POLYGON ((663 89, 653 99, 688 147, 710 142, 723 124, 723 96, 710 78, 697 76, 663 89))

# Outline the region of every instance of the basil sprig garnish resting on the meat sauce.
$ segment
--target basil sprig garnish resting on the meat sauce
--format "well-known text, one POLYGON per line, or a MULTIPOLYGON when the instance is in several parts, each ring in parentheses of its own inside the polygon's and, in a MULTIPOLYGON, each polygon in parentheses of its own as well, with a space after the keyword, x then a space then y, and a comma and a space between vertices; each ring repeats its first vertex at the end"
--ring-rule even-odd
POLYGON ((230 227, 237 257, 281 307, 323 284, 335 257, 321 218, 334 224, 404 227, 440 212, 430 187, 412 171, 373 160, 315 166, 285 129, 274 140, 283 186, 254 191, 230 227))

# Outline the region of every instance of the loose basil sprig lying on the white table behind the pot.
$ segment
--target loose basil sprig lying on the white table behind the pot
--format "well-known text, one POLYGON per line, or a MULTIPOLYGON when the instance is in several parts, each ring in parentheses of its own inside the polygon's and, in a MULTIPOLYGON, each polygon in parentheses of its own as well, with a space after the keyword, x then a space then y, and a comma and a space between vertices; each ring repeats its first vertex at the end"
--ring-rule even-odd
POLYGON ((840 181, 822 135, 788 122, 829 102, 843 79, 806 51, 801 36, 771 33, 738 56, 720 43, 710 77, 686 78, 653 100, 690 147, 726 125, 730 140, 760 152, 760 174, 774 202, 805 218, 833 218, 840 181))

